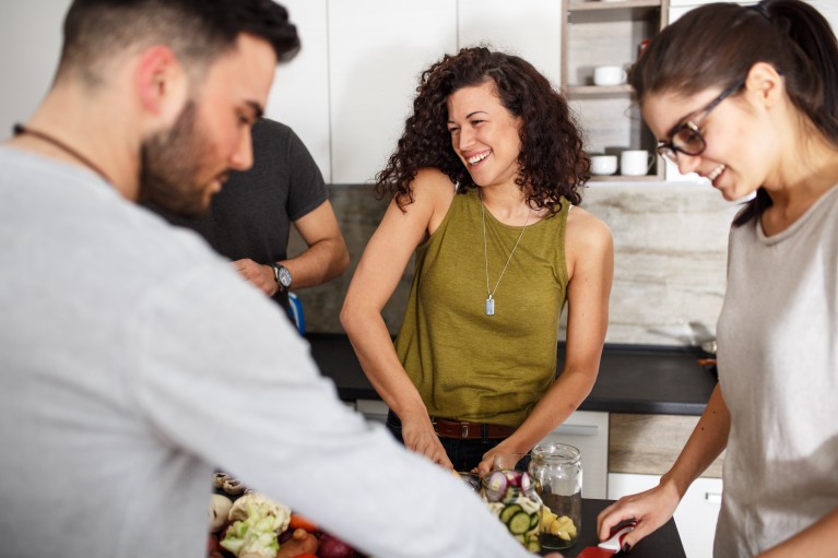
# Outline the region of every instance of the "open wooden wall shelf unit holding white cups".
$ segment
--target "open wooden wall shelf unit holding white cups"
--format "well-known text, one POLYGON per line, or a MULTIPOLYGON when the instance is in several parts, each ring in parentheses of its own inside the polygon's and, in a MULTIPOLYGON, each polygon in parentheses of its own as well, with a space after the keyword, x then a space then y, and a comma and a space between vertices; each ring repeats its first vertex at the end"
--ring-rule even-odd
POLYGON ((623 70, 637 60, 645 40, 666 25, 669 0, 563 0, 562 84, 576 109, 591 154, 649 155, 647 175, 598 176, 595 180, 659 180, 663 162, 626 83, 594 85, 598 67, 623 70))

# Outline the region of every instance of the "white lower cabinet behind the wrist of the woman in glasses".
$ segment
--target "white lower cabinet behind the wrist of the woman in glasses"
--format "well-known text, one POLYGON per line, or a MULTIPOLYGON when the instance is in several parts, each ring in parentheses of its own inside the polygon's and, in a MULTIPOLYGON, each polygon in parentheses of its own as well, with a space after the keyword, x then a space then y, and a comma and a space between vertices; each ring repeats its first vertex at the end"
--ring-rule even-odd
MULTIPOLYGON (((609 499, 641 492, 660 482, 659 475, 609 474, 609 499)), ((688 558, 711 558, 716 521, 721 509, 721 478, 696 479, 675 510, 681 542, 688 558)))

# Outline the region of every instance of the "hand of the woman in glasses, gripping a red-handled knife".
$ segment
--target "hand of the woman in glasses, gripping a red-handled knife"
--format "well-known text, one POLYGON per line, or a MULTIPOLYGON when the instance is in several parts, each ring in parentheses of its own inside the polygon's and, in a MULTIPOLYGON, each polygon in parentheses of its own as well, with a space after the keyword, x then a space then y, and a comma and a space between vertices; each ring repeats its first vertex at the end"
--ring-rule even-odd
POLYGON ((611 530, 622 521, 634 519, 635 529, 623 539, 623 545, 635 546, 638 541, 657 531, 675 513, 681 497, 674 486, 660 484, 645 492, 625 496, 602 510, 597 518, 600 541, 611 536, 611 530))

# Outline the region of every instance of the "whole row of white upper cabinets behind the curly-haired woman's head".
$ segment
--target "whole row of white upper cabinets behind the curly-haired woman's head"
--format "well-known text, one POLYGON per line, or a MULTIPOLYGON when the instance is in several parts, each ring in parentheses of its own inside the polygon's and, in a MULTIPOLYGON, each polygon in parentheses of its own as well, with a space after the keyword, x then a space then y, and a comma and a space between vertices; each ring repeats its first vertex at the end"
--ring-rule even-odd
POLYGON ((290 124, 327 182, 368 183, 387 164, 420 74, 445 54, 487 45, 559 84, 556 0, 281 0, 303 48, 276 70, 267 116, 290 124))

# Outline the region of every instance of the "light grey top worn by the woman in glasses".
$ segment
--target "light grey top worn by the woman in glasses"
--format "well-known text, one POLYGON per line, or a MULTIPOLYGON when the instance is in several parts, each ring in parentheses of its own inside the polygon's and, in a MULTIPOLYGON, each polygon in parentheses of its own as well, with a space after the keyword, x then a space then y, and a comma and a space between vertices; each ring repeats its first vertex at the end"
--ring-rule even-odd
POLYGON ((718 343, 731 431, 715 556, 751 557, 838 509, 838 187, 782 233, 731 230, 718 343))

